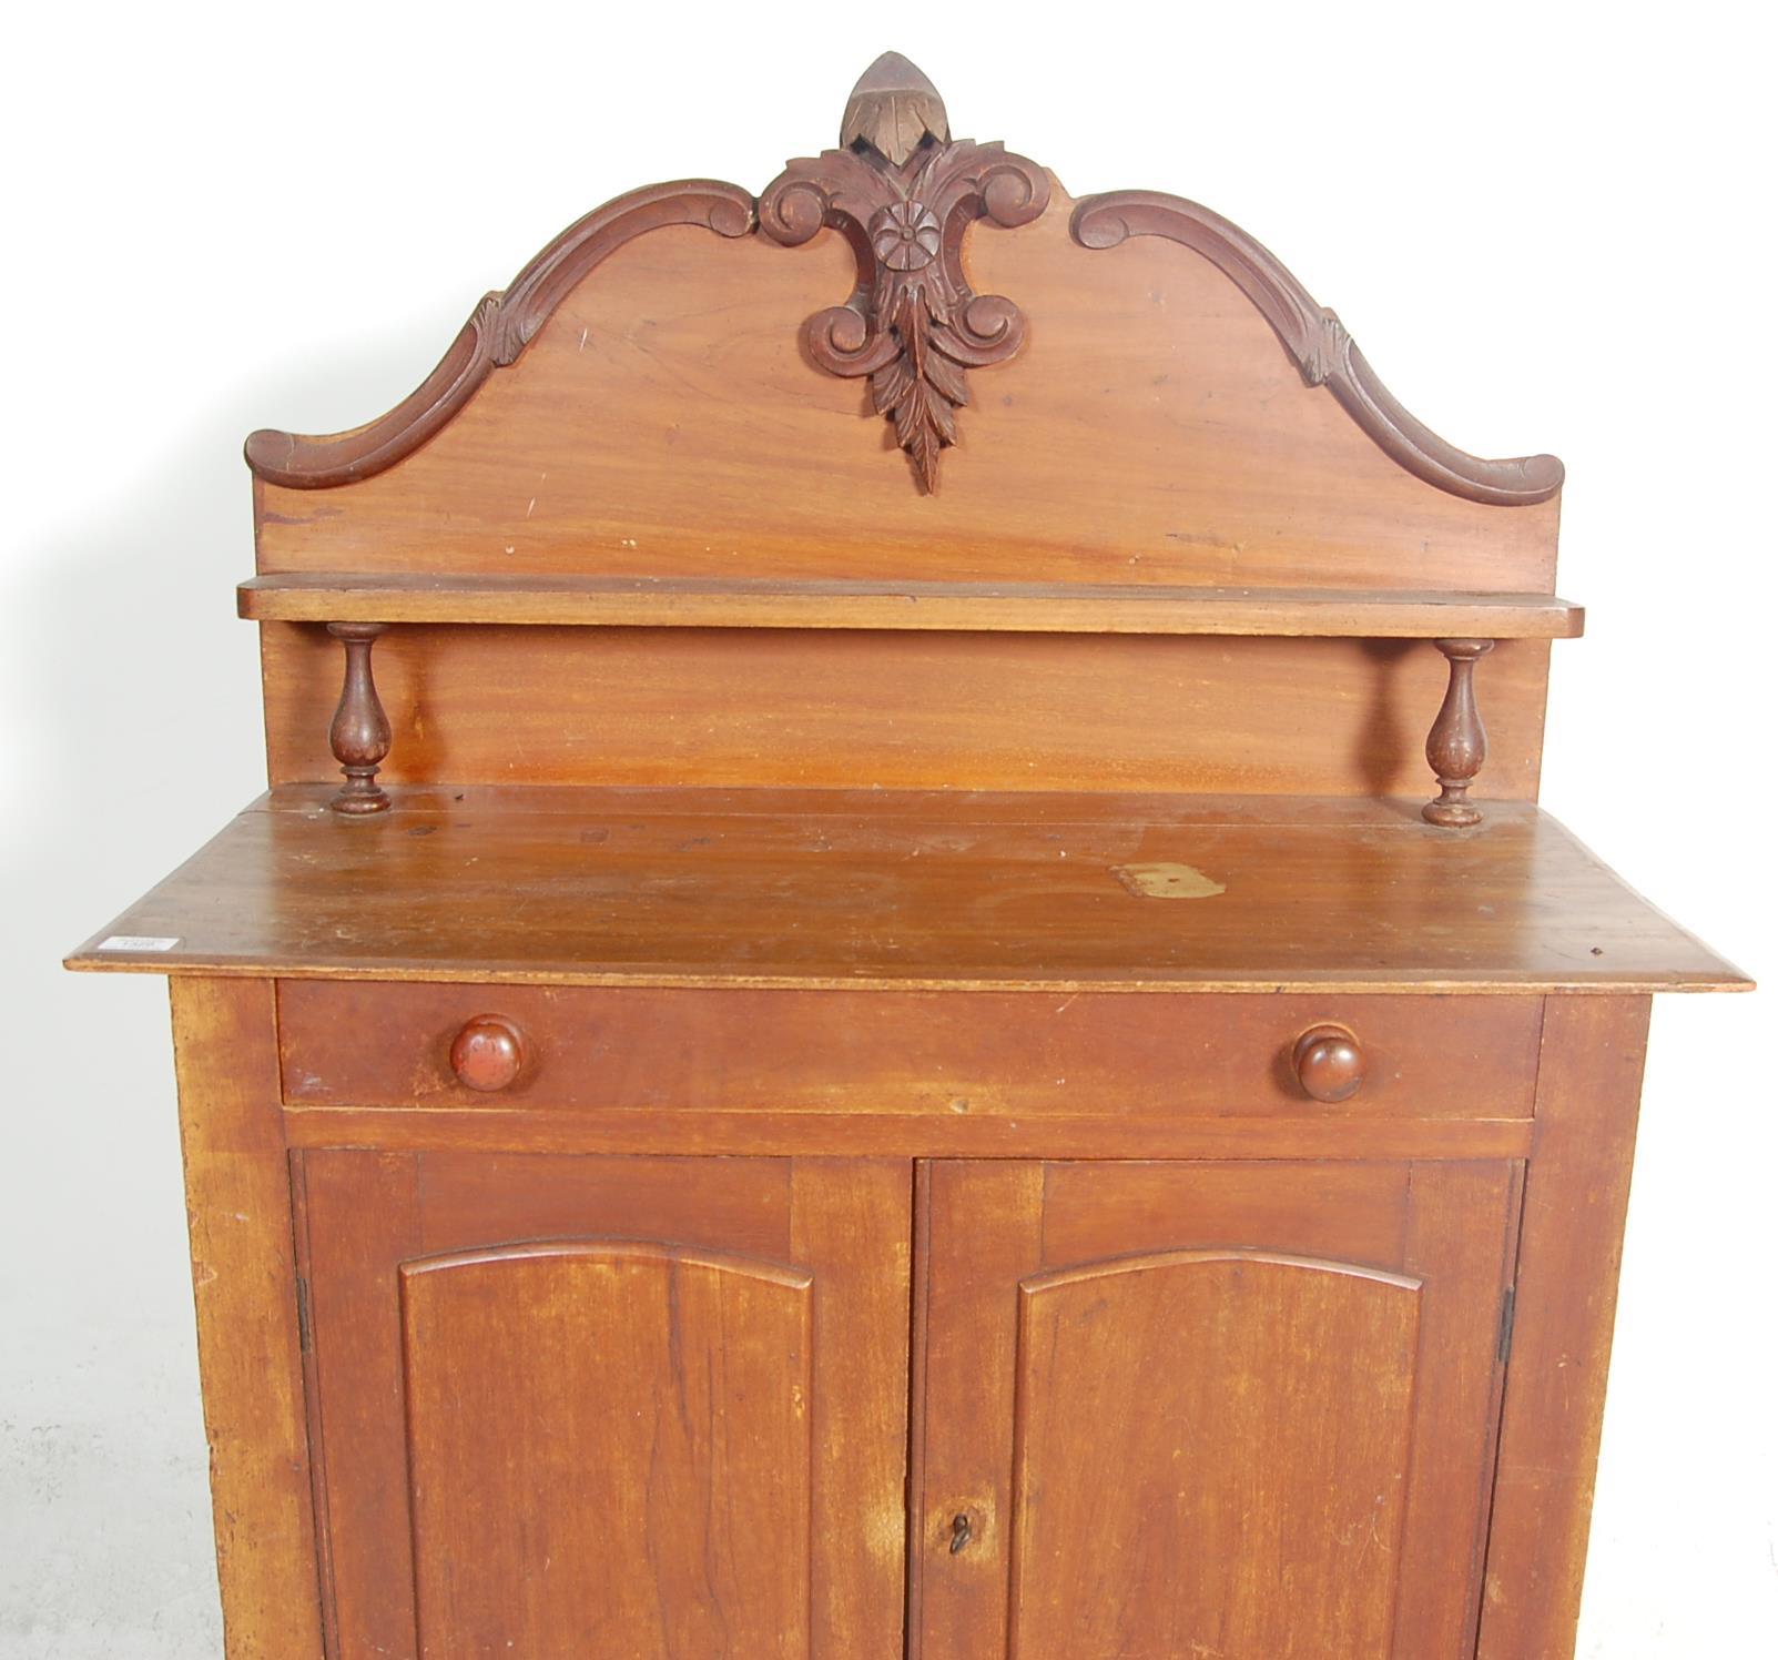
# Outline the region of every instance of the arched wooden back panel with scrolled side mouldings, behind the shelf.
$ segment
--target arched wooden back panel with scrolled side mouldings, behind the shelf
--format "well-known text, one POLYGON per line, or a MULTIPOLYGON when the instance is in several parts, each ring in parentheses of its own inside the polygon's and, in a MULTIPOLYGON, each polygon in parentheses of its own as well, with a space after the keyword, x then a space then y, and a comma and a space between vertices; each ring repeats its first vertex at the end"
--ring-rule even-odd
MULTIPOLYGON (((621 197, 402 409, 256 434, 260 571, 1552 591, 1558 463, 1442 445, 1214 215, 1076 210, 1017 157, 1047 208, 989 222, 985 187, 955 270, 1022 340, 969 368, 923 493, 805 331, 868 308, 869 251, 836 215, 781 246, 798 169, 855 160, 791 164, 757 215, 725 185, 621 197)), ((336 651, 263 639, 272 779, 329 778, 336 651)), ((396 628, 377 665, 391 779, 1314 794, 1417 792, 1446 673, 1403 642, 466 626, 396 628)), ((1543 644, 1488 660, 1478 794, 1536 794, 1545 683, 1543 644)))

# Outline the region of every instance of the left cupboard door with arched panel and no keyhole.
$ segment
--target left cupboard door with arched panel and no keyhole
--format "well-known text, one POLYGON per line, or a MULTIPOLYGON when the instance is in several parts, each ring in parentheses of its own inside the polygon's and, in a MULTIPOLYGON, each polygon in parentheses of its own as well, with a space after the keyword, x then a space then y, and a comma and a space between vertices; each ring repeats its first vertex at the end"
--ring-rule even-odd
POLYGON ((297 1165, 336 1660, 894 1660, 905 1164, 297 1165))

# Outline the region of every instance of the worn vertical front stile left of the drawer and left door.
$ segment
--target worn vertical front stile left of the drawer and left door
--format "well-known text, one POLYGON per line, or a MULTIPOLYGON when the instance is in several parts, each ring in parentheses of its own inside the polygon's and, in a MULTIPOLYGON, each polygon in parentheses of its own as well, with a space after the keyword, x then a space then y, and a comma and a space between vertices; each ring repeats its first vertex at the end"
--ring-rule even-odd
POLYGON ((172 980, 197 1363, 229 1660, 318 1660, 290 1174, 267 980, 172 980))

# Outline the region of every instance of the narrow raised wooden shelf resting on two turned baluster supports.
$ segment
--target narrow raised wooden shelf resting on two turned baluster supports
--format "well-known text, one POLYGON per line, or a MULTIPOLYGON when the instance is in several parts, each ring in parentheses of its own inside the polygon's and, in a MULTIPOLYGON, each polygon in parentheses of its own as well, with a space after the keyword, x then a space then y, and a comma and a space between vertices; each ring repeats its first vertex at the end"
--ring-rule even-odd
POLYGON ((1357 639, 1574 639, 1550 594, 1038 582, 784 582, 706 576, 290 573, 240 585, 256 623, 507 623, 629 628, 898 628, 1357 639))

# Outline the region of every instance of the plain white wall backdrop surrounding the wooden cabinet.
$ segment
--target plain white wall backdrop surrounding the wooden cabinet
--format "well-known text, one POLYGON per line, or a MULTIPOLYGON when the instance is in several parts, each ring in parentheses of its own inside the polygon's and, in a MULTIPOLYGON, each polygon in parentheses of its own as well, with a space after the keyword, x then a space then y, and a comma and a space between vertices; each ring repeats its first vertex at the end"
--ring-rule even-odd
MULTIPOLYGON (((242 438, 380 413, 619 190, 761 189, 885 46, 1076 194, 1237 219, 1456 443, 1563 455, 1590 635, 1556 648, 1545 804, 1778 971, 1751 9, 626 11, 7 25, 4 1660, 220 1653, 165 1002, 57 959, 261 788, 242 438)), ((1771 1027, 1764 995, 1657 1005, 1586 1656, 1778 1653, 1771 1027)))

